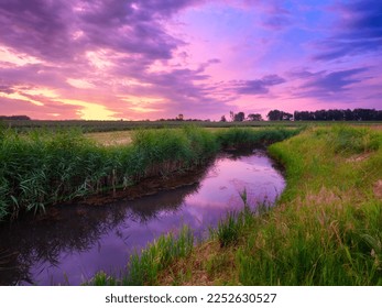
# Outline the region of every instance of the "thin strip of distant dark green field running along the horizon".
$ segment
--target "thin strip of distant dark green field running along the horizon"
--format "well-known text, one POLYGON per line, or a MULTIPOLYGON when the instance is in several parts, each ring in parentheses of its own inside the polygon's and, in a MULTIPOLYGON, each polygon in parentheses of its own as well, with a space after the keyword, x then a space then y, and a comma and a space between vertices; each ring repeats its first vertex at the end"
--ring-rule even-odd
MULTIPOLYGON (((4 127, 28 131, 30 129, 46 128, 80 128, 84 132, 110 132, 128 131, 134 129, 159 129, 159 128, 181 128, 184 125, 197 125, 201 128, 231 128, 231 127, 301 127, 301 125, 330 125, 332 121, 253 121, 253 122, 207 122, 207 121, 24 121, 24 120, 3 120, 4 127)), ((336 122, 339 123, 339 122, 336 122)), ((354 125, 378 125, 381 122, 346 122, 354 125)))

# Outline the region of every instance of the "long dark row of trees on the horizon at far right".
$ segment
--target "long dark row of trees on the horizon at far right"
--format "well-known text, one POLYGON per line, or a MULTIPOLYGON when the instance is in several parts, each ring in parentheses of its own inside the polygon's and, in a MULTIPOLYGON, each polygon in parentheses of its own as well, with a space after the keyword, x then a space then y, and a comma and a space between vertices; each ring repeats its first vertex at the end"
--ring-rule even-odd
MULTIPOLYGON (((270 119, 271 120, 271 119, 270 119)), ((382 110, 375 109, 329 109, 295 111, 295 121, 382 121, 382 110)))

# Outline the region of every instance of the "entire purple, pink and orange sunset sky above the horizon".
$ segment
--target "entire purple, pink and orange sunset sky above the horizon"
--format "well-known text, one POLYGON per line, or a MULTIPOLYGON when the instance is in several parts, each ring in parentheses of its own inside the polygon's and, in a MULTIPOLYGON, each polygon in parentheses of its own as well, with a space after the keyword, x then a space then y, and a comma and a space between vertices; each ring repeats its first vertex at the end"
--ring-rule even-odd
POLYGON ((382 109, 382 1, 0 0, 0 114, 382 109))

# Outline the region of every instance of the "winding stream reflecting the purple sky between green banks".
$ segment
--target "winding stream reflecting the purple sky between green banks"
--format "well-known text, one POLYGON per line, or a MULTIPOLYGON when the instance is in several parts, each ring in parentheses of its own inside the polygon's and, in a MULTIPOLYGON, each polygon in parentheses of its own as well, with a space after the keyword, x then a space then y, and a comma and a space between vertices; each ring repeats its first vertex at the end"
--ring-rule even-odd
POLYGON ((107 206, 65 206, 56 216, 0 228, 0 284, 78 285, 102 270, 119 273, 129 255, 188 224, 203 238, 227 211, 273 204, 284 179, 262 151, 223 154, 198 184, 107 206))

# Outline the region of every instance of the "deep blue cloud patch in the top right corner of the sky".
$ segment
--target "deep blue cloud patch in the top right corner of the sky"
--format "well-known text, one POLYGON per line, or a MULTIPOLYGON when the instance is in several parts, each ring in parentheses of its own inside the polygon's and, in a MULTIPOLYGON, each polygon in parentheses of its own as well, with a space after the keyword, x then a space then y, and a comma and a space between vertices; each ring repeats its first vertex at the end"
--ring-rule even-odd
POLYGON ((380 53, 382 47, 382 2, 362 0, 341 3, 332 9, 340 20, 332 35, 315 44, 318 61, 380 53))

